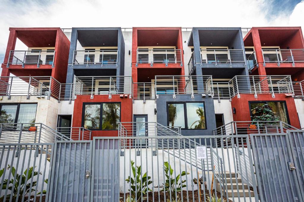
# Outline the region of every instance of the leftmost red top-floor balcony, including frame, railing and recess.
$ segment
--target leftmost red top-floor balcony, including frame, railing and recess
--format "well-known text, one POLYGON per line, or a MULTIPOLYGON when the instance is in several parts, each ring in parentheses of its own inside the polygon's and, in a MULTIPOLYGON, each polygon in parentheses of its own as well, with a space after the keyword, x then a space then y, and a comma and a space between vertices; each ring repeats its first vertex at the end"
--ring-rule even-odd
POLYGON ((60 28, 9 30, 2 76, 9 76, 10 73, 16 76, 53 76, 60 82, 64 81, 70 41, 60 28))

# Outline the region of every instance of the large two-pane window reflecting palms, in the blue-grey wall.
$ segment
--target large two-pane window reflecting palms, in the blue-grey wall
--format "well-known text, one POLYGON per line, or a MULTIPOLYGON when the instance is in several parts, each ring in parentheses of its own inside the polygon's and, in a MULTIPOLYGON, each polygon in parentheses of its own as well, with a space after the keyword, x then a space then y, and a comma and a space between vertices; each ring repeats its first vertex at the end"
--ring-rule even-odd
POLYGON ((205 104, 203 102, 168 103, 168 126, 184 129, 206 129, 205 104))

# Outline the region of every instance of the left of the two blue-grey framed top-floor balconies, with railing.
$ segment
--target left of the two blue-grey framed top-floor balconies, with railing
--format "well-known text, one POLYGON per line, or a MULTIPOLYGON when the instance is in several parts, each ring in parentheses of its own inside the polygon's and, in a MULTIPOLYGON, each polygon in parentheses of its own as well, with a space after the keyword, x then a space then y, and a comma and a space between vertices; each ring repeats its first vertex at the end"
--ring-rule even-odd
POLYGON ((124 40, 121 29, 72 28, 69 67, 74 69, 124 68, 124 40))

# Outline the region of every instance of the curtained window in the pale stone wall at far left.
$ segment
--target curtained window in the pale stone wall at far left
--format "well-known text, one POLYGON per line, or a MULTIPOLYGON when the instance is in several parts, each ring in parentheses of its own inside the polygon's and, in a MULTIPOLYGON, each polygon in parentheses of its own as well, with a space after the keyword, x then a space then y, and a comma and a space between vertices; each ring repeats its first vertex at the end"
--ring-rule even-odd
POLYGON ((33 126, 36 120, 37 104, 2 104, 1 123, 29 123, 23 127, 33 126))

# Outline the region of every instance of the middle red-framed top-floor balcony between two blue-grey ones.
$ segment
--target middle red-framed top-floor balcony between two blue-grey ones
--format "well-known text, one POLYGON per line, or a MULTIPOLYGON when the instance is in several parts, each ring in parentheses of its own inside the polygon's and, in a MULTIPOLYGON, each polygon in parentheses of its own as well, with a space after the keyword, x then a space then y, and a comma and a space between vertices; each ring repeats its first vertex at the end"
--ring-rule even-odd
POLYGON ((184 63, 181 28, 134 27, 132 53, 132 67, 136 69, 181 68, 184 63))

